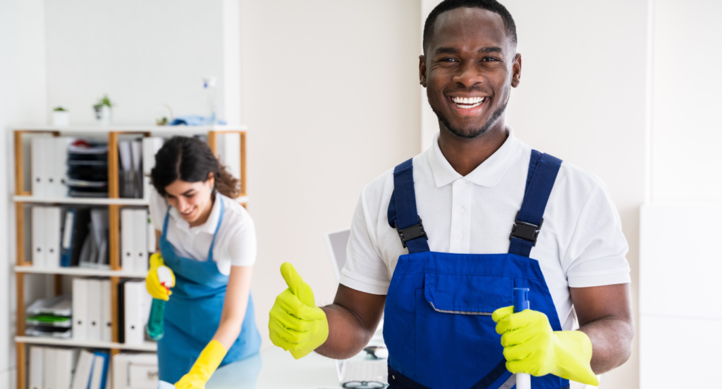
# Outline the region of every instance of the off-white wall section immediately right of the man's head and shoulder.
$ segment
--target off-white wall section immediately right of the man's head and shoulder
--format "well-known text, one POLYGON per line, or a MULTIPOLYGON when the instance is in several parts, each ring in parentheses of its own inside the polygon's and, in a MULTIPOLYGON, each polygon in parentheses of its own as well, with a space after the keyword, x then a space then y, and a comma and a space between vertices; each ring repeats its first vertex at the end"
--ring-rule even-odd
MULTIPOLYGON (((639 206, 644 201, 647 1, 503 1, 522 55, 508 122, 521 140, 606 183, 630 245, 638 316, 639 206)), ((638 340, 600 388, 638 387, 638 340)))

